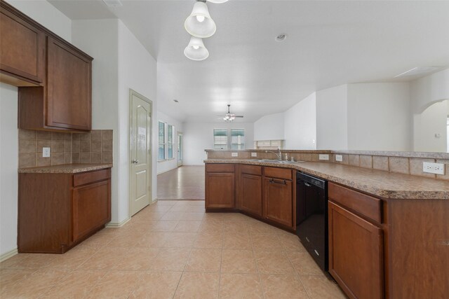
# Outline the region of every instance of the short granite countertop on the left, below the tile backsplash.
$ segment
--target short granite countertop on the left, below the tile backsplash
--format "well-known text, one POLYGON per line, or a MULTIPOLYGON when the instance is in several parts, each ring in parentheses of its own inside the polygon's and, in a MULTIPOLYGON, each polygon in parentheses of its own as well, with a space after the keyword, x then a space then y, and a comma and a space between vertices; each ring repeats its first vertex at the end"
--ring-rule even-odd
POLYGON ((19 168, 20 174, 77 174, 111 168, 112 164, 64 164, 41 167, 19 168))

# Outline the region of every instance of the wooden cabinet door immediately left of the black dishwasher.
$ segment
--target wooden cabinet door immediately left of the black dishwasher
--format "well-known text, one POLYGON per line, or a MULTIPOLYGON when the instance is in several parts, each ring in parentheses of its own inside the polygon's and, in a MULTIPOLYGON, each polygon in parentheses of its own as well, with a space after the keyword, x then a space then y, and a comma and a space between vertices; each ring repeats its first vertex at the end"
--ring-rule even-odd
POLYGON ((292 181, 264 178, 264 218, 289 227, 293 225, 292 181))

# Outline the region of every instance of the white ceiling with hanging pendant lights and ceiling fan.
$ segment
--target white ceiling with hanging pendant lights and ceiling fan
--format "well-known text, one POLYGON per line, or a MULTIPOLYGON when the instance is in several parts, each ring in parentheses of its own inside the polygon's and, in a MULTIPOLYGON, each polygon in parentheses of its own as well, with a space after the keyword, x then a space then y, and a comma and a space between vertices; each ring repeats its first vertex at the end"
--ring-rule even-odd
POLYGON ((183 121, 220 122, 229 103, 253 122, 315 90, 449 65, 449 1, 208 3, 217 32, 203 62, 183 54, 194 0, 50 2, 72 20, 120 18, 158 61, 158 109, 183 121))

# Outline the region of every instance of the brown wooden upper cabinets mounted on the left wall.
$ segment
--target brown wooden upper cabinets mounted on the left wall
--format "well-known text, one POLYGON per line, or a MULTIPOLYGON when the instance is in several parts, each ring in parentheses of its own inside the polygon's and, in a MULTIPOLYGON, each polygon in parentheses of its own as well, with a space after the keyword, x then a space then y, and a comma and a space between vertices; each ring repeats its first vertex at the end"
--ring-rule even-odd
POLYGON ((18 86, 18 125, 90 131, 92 60, 0 0, 0 81, 18 86))

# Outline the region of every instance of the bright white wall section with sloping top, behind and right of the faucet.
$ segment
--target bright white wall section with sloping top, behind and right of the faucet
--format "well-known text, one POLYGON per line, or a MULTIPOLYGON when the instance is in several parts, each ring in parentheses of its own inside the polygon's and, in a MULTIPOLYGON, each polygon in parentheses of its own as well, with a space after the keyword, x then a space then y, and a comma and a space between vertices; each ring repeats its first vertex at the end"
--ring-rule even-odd
POLYGON ((316 149, 316 93, 283 113, 285 148, 316 149))

